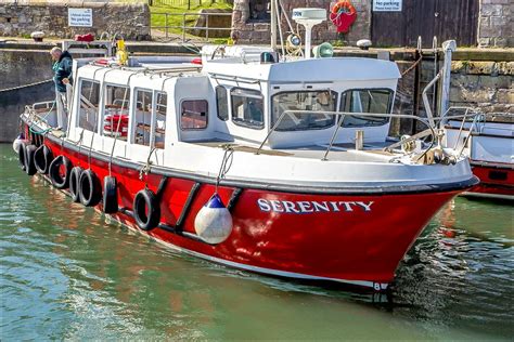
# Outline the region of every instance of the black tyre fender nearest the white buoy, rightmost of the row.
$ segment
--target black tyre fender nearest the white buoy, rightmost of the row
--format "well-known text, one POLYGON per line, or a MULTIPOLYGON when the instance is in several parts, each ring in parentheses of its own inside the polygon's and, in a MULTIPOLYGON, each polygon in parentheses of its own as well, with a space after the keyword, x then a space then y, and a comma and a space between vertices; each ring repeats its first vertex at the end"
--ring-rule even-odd
POLYGON ((145 188, 133 198, 133 218, 143 231, 155 228, 160 221, 160 206, 155 194, 145 188))

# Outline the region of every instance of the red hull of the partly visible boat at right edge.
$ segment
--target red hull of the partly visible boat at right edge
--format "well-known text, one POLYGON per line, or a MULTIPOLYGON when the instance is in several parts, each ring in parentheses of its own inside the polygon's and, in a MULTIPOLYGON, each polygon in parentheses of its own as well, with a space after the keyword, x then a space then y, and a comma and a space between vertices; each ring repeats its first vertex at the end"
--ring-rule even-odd
POLYGON ((514 166, 512 163, 481 162, 472 160, 472 170, 480 184, 465 195, 498 197, 514 200, 514 166))

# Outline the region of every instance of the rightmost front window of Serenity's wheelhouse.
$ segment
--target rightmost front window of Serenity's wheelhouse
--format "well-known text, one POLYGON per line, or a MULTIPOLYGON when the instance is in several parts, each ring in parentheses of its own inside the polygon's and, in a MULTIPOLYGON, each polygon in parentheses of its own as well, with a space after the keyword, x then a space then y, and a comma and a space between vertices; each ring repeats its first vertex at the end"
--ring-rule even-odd
MULTIPOLYGON (((389 89, 348 90, 340 96, 340 111, 389 114, 393 105, 393 91, 389 89)), ((382 126, 389 118, 369 116, 345 116, 343 127, 382 126)))

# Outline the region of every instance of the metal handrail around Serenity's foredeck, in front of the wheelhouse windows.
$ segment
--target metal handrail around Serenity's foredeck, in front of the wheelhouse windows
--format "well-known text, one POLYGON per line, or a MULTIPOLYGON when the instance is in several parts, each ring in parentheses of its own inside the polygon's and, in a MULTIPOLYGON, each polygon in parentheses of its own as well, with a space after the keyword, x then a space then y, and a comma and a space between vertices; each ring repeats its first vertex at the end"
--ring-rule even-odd
MULTIPOLYGON (((321 110, 293 110, 293 109, 290 109, 290 110, 284 110, 279 119, 277 120, 277 122, 273 124, 273 127, 271 128, 271 130, 268 132, 268 134, 266 135, 265 140, 262 141, 262 143, 259 145, 259 148, 257 148, 257 152, 255 153, 256 155, 259 155, 260 154, 260 150, 262 149, 264 145, 266 144, 266 142, 268 141, 268 139, 270 137, 271 133, 273 133, 275 131, 275 129, 279 127, 280 122, 282 122, 282 119, 285 117, 285 115, 290 115, 290 114, 299 114, 301 116, 304 115, 310 115, 310 114, 324 114, 324 115, 329 115, 329 116, 342 116, 340 119, 337 121, 337 127, 334 131, 334 133, 332 134, 332 137, 331 137, 331 141, 330 141, 330 144, 329 144, 329 147, 326 148, 324 155, 323 155, 323 158, 321 158, 321 160, 327 160, 326 159, 326 156, 329 155, 330 150, 332 149, 332 146, 334 144, 334 141, 337 136, 337 133, 339 131, 339 128, 342 127, 342 123, 345 119, 345 117, 347 115, 349 116, 357 116, 357 117, 375 117, 375 118, 407 118, 407 119, 413 119, 413 120, 417 120, 424 124, 426 124, 429 129, 429 134, 432 135, 432 141, 434 141, 434 139, 436 137, 436 132, 434 130, 434 127, 431 126, 431 123, 423 119, 423 118, 419 118, 416 116, 413 116, 413 115, 410 115, 410 114, 385 114, 385 113, 351 113, 351 111, 321 111, 321 110)), ((423 157, 426 153, 426 150, 428 150, 429 148, 432 147, 432 145, 426 148, 421 157, 423 157)), ((387 148, 387 147, 386 147, 387 148)), ((420 157, 420 158, 421 158, 420 157)))

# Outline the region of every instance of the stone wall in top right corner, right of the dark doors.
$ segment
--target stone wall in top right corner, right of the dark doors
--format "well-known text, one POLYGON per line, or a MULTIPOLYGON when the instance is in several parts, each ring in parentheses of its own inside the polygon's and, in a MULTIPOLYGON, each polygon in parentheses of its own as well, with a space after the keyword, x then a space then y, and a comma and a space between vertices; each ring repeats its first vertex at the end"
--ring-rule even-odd
POLYGON ((478 47, 514 47, 513 0, 481 0, 478 47))

